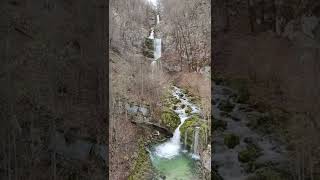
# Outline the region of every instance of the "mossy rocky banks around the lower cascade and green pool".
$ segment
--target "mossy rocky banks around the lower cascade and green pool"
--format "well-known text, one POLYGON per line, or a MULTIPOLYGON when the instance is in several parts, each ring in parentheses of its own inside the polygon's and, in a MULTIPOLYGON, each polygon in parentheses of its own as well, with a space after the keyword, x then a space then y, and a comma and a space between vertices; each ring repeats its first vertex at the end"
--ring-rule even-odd
MULTIPOLYGON (((187 90, 180 90, 177 87, 172 86, 172 88, 168 89, 167 93, 163 96, 163 108, 160 115, 160 122, 158 123, 158 127, 162 127, 168 129, 172 134, 175 133, 175 129, 179 126, 180 115, 177 113, 182 110, 185 111, 187 116, 190 118, 186 119, 180 127, 181 142, 179 141, 178 148, 181 146, 181 150, 178 149, 179 153, 184 154, 186 152, 190 152, 190 155, 185 154, 186 156, 181 157, 182 159, 177 161, 179 165, 184 168, 182 163, 183 159, 188 158, 190 156, 190 160, 195 158, 193 161, 196 166, 200 167, 200 174, 202 174, 201 179, 210 179, 210 170, 211 170, 211 149, 210 145, 207 143, 210 142, 209 136, 209 128, 207 126, 207 122, 201 118, 201 111, 195 105, 199 103, 199 99, 193 97, 190 92, 187 90), (174 94, 170 92, 175 92, 174 94), (195 129, 199 127, 198 135, 196 135, 195 129), (195 139, 195 135, 198 136, 198 139, 195 139), (195 142, 196 140, 196 142, 195 142), (183 152, 182 152, 183 150, 183 152)), ((153 154, 152 149, 158 146, 159 142, 163 142, 163 140, 169 141, 169 139, 165 138, 167 134, 159 133, 157 129, 153 127, 146 126, 151 122, 155 122, 155 120, 150 120, 147 112, 149 112, 148 106, 144 106, 143 108, 139 105, 126 106, 129 117, 135 117, 132 119, 140 119, 139 123, 137 123, 141 127, 148 127, 151 131, 153 131, 153 136, 150 136, 150 139, 145 138, 141 141, 141 148, 139 150, 139 155, 134 161, 134 170, 132 171, 130 178, 137 179, 137 177, 147 178, 148 176, 165 178, 161 169, 154 168, 150 164, 150 158, 154 159, 156 156, 153 154), (140 115, 138 115, 140 114, 140 115), (141 116, 140 118, 136 118, 137 116, 141 116), (165 138, 165 139, 163 139, 165 138), (150 149, 151 151, 149 151, 150 149), (149 154, 150 158, 146 158, 146 155, 149 154), (142 166, 143 165, 143 166, 142 166)), ((176 136, 176 135, 174 135, 176 136)), ((180 135, 179 135, 180 136, 180 135)), ((187 159, 186 159, 187 160, 187 159)), ((168 164, 168 166, 170 163, 168 164)), ((195 167, 194 170, 198 168, 195 167)), ((180 169, 182 170, 182 169, 180 169)), ((196 170, 199 172, 199 169, 196 170)), ((191 173, 191 172, 189 172, 191 173)))

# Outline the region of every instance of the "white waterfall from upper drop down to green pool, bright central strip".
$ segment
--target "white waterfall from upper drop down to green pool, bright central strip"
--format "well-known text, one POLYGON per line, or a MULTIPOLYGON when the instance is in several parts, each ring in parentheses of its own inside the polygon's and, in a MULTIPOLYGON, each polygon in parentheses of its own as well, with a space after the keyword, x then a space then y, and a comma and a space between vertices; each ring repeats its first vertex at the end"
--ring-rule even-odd
MULTIPOLYGON (((156 15, 156 26, 160 23, 159 14, 156 15)), ((155 34, 154 28, 151 28, 149 39, 153 40, 154 59, 151 62, 152 79, 155 78, 156 72, 161 70, 161 39, 158 34, 155 34)), ((166 180, 198 180, 200 174, 197 161, 199 154, 197 152, 198 131, 195 133, 194 152, 188 152, 181 142, 180 126, 190 116, 186 113, 186 108, 189 106, 192 109, 191 114, 199 113, 199 108, 192 104, 187 95, 178 87, 173 87, 172 95, 180 100, 179 107, 174 110, 180 118, 180 124, 175 129, 173 137, 162 144, 154 145, 149 150, 150 159, 153 167, 160 173, 162 179, 166 180), (184 108, 181 105, 184 104, 184 108)), ((173 109, 172 109, 173 110, 173 109)), ((160 178, 161 179, 161 178, 160 178)))

